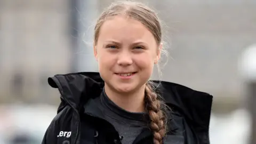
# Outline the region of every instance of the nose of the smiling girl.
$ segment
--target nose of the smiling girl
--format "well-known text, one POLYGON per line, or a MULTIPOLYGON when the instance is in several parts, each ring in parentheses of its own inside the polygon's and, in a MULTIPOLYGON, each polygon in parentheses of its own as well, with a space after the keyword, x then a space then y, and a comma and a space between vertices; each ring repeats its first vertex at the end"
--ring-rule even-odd
POLYGON ((117 64, 120 66, 129 66, 132 65, 132 54, 129 51, 121 51, 118 54, 117 64))

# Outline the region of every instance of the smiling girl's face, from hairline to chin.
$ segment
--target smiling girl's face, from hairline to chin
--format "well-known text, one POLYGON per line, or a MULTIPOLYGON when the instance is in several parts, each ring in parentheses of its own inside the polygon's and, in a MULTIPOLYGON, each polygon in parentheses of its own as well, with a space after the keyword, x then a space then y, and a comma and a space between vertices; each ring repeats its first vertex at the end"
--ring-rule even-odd
POLYGON ((101 26, 94 55, 106 86, 126 93, 146 84, 161 49, 141 22, 115 16, 101 26))

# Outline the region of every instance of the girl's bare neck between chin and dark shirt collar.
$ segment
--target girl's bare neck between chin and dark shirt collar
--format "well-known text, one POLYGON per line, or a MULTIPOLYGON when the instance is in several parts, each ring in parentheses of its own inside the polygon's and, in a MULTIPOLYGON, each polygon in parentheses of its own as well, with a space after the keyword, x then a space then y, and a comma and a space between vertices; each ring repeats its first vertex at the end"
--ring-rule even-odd
POLYGON ((132 113, 145 112, 145 85, 132 92, 121 93, 111 89, 108 85, 105 84, 105 92, 107 97, 118 107, 121 107, 132 113))

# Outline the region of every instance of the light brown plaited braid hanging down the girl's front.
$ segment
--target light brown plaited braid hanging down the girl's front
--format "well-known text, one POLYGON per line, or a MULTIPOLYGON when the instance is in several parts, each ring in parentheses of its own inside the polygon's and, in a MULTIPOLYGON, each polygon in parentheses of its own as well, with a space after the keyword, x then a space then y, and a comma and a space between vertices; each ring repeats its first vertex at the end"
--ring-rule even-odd
POLYGON ((154 134, 154 144, 163 143, 166 133, 166 117, 162 107, 164 103, 157 98, 153 86, 148 82, 145 89, 145 104, 150 118, 150 129, 154 134))

